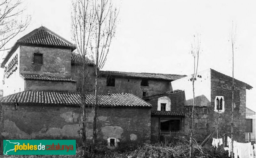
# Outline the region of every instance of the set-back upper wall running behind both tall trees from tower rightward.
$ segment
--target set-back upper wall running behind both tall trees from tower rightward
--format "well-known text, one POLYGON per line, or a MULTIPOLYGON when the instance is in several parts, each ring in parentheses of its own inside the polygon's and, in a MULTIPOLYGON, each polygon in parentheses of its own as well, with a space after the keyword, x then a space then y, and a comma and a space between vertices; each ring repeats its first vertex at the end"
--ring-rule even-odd
MULTIPOLYGON (((81 85, 81 77, 79 77, 79 67, 72 65, 71 66, 71 77, 77 81, 77 91, 81 85)), ((94 67, 89 66, 86 70, 86 87, 87 91, 93 91, 95 84, 95 74, 94 67)), ((141 86, 141 78, 128 78, 128 77, 115 77, 115 86, 107 86, 107 77, 109 76, 100 76, 99 77, 99 93, 132 93, 139 98, 142 98, 143 91, 147 92, 147 96, 171 91, 172 89, 169 81, 165 80, 148 80, 148 86, 141 86)))

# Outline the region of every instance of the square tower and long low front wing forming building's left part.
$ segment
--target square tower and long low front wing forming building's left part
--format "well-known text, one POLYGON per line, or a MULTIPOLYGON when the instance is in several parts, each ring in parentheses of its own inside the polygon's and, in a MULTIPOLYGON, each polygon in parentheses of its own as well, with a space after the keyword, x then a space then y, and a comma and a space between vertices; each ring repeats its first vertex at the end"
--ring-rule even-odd
MULTIPOLYGON (((40 27, 20 38, 7 54, 4 97, 0 98, 1 139, 79 139, 81 102, 77 93, 76 46, 40 27)), ((93 63, 88 59, 88 66, 93 63)), ((79 75, 79 74, 78 74, 79 75)), ((92 75, 93 76, 93 75, 92 75)), ((93 77, 92 77, 93 78, 93 77)), ((78 83, 79 86, 79 83, 78 83)), ((91 138, 92 95, 87 95, 87 135, 91 138)), ((130 93, 101 94, 99 141, 108 146, 149 142, 151 105, 130 93)))

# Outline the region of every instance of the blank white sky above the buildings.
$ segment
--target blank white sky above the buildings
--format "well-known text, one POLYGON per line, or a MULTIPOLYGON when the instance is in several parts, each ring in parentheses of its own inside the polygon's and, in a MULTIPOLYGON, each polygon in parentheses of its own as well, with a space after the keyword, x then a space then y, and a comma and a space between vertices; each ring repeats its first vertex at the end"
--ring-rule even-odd
MULTIPOLYGON (((9 46, 42 25, 71 41, 71 0, 27 0, 26 3, 31 25, 9 46)), ((255 4, 255 1, 231 0, 123 0, 116 37, 103 69, 192 74, 190 45, 192 36, 198 33, 203 50, 199 71, 212 68, 232 76, 229 40, 233 20, 237 25, 234 76, 255 87, 255 4)), ((2 78, 3 71, 0 73, 2 78)), ((247 90, 246 106, 254 111, 255 95, 256 87, 247 90)))

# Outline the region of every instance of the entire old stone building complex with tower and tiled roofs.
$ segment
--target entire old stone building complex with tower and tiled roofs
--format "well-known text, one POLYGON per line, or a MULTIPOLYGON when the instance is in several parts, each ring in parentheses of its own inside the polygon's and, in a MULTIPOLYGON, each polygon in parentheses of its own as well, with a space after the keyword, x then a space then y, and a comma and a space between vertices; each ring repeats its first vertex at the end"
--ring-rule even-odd
MULTIPOLYGON (((82 59, 75 49, 74 44, 45 27, 35 29, 15 43, 1 65, 4 68, 1 138, 79 140, 82 59)), ((95 74, 94 63, 89 59, 86 63, 90 107, 94 100, 90 92, 95 74)), ((128 141, 158 142, 163 135, 189 132, 193 102, 189 78, 191 76, 100 71, 100 143, 117 146, 128 141)), ((196 79, 198 140, 216 129, 217 118, 219 134, 230 134, 232 78, 208 69, 199 72, 196 79)), ((246 140, 245 98, 246 89, 251 88, 235 80, 234 131, 240 142, 246 140)), ((91 108, 88 111, 87 134, 91 138, 91 108)))

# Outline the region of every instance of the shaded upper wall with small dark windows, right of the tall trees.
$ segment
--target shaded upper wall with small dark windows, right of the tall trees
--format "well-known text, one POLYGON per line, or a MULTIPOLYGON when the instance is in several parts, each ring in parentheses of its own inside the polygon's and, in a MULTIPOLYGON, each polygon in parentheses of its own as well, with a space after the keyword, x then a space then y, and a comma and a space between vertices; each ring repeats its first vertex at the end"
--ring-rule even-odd
POLYGON ((106 76, 101 76, 99 81, 99 91, 101 93, 132 93, 142 98, 143 91, 147 96, 170 91, 169 82, 164 80, 148 80, 148 86, 141 86, 140 78, 115 77, 115 87, 106 86, 106 76))

